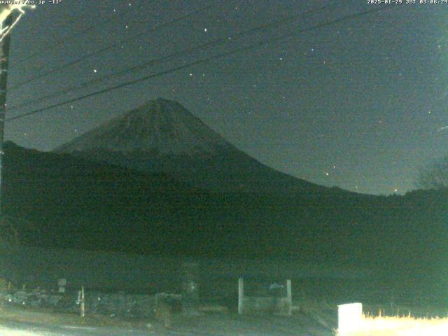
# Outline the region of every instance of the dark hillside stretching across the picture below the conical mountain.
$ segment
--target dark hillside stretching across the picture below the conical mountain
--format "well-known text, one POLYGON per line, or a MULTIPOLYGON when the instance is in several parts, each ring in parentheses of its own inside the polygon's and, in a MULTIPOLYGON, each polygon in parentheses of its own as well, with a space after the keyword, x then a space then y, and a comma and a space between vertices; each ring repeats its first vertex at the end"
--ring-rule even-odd
POLYGON ((430 279, 448 265, 448 193, 210 193, 13 144, 4 176, 6 213, 29 221, 20 235, 34 246, 282 256, 430 279))

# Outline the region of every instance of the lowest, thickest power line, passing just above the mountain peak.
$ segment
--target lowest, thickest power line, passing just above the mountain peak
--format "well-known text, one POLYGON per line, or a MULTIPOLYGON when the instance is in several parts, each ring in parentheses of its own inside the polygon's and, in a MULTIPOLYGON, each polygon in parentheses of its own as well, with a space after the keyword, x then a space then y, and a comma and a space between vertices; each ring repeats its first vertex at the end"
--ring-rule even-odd
POLYGON ((136 80, 130 80, 130 81, 126 82, 126 83, 122 83, 122 84, 119 84, 119 85, 114 85, 114 86, 108 87, 106 89, 102 89, 102 90, 98 90, 98 91, 95 91, 95 92, 91 92, 89 94, 85 94, 85 95, 77 97, 77 98, 69 99, 69 100, 67 100, 65 102, 60 102, 60 103, 57 103, 57 104, 53 104, 53 105, 44 107, 42 109, 36 109, 34 111, 24 113, 24 114, 22 114, 20 116, 7 118, 5 121, 8 122, 8 121, 12 121, 12 120, 18 120, 18 119, 24 118, 26 116, 31 116, 32 114, 41 113, 41 112, 47 111, 49 109, 54 109, 55 107, 58 107, 58 106, 63 106, 63 105, 70 104, 70 103, 73 103, 73 102, 78 102, 79 100, 86 99, 86 98, 89 98, 89 97, 94 97, 94 96, 96 96, 98 94, 103 94, 103 93, 106 93, 106 92, 110 92, 112 90, 118 90, 118 89, 120 89, 122 87, 126 87, 128 85, 134 85, 134 84, 141 83, 141 82, 144 82, 146 80, 149 80, 151 78, 163 76, 163 75, 165 75, 167 73, 172 73, 174 71, 179 71, 181 69, 186 69, 186 68, 188 68, 190 66, 195 66, 197 64, 207 63, 207 62, 210 62, 210 61, 215 60, 215 59, 221 59, 223 57, 234 55, 234 54, 236 54, 238 52, 252 50, 252 49, 255 49, 255 48, 260 48, 263 45, 267 45, 267 44, 272 43, 272 42, 280 41, 280 40, 282 40, 284 38, 292 37, 295 34, 300 34, 300 33, 303 33, 305 31, 311 31, 311 30, 314 30, 314 29, 319 29, 319 28, 328 27, 328 26, 331 26, 331 25, 336 25, 337 23, 340 23, 340 22, 353 20, 353 19, 356 19, 356 18, 360 18, 360 17, 362 17, 364 15, 370 15, 372 13, 377 13, 377 12, 379 12, 381 10, 384 10, 385 8, 388 8, 388 7, 389 6, 379 6, 379 7, 376 7, 374 9, 371 9, 371 10, 365 10, 364 12, 360 12, 360 13, 356 13, 356 14, 352 14, 352 15, 346 15, 346 16, 344 16, 342 18, 339 18, 339 19, 330 20, 328 22, 324 22, 324 23, 321 23, 321 24, 318 24, 318 25, 314 25, 314 26, 311 26, 311 27, 307 27, 307 28, 304 28, 304 29, 298 29, 297 31, 294 31, 292 33, 283 34, 282 36, 278 36, 276 38, 269 38, 269 39, 267 39, 265 41, 259 41, 257 43, 253 43, 251 45, 247 45, 245 47, 236 48, 236 49, 230 50, 228 52, 222 52, 221 54, 218 54, 218 55, 214 55, 214 56, 211 56, 211 57, 206 57, 204 59, 199 59, 199 60, 197 60, 195 62, 190 62, 188 64, 183 64, 181 66, 176 66, 173 69, 169 69, 169 70, 166 70, 166 71, 160 71, 158 73, 153 73, 151 75, 144 76, 143 78, 139 78, 139 79, 136 79, 136 80))

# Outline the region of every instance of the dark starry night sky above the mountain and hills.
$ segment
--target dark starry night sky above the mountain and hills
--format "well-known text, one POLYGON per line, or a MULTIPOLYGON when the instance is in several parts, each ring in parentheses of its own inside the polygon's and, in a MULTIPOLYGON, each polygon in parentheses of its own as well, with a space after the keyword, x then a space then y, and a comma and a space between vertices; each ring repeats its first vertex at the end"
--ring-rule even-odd
POLYGON ((367 0, 61 2, 28 11, 13 31, 11 109, 216 38, 226 42, 8 111, 7 118, 232 48, 273 41, 10 121, 6 139, 20 146, 50 151, 105 120, 164 97, 183 104, 260 162, 325 186, 405 193, 415 188, 419 167, 447 155, 448 130, 437 130, 448 125, 448 5, 390 5, 301 32, 379 5, 367 0), (235 36, 307 12, 293 22, 235 36), (85 31, 92 25, 97 27, 85 31), (136 34, 141 36, 125 41, 136 34), (283 34, 288 37, 276 39, 283 34), (21 84, 113 44, 115 48, 64 71, 21 84))

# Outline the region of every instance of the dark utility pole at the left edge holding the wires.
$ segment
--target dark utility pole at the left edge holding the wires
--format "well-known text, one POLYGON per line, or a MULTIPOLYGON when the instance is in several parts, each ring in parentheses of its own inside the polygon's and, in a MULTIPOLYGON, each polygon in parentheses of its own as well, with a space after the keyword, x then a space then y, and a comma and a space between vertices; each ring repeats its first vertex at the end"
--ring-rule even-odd
MULTIPOLYGON (((8 15, 4 26, 13 25, 13 14, 8 15)), ((10 34, 6 34, 0 41, 0 216, 3 215, 3 139, 5 133, 6 117, 6 87, 8 84, 8 63, 9 63, 10 34)))

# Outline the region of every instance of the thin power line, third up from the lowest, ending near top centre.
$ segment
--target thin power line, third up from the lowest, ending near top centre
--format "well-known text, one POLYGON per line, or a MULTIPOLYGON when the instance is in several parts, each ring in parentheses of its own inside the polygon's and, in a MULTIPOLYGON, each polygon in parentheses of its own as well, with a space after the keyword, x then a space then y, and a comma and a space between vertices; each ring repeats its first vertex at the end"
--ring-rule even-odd
POLYGON ((16 88, 18 88, 20 86, 27 85, 27 84, 29 84, 31 82, 34 82, 34 80, 38 80, 38 79, 46 77, 46 76, 48 76, 48 75, 50 75, 52 73, 59 72, 59 71, 62 71, 64 69, 67 69, 67 68, 69 68, 69 66, 73 66, 75 64, 78 64, 80 62, 85 61, 85 59, 88 59, 88 58, 93 57, 93 56, 97 56, 97 55, 102 54, 103 52, 106 52, 108 50, 112 50, 113 48, 121 46, 125 42, 129 42, 129 41, 135 40, 135 39, 139 38, 140 36, 144 36, 144 35, 146 35, 148 33, 151 33, 151 32, 153 32, 153 31, 155 31, 157 29, 160 29, 160 28, 163 28, 163 27, 167 27, 169 25, 172 25, 172 24, 174 24, 176 22, 179 22, 181 20, 184 20, 186 18, 190 18, 190 16, 196 15, 198 13, 202 13, 204 10, 209 9, 212 6, 214 6, 214 5, 205 6, 205 7, 201 8, 201 9, 199 9, 199 10, 195 10, 194 12, 188 13, 186 15, 182 15, 181 17, 176 18, 176 19, 174 19, 172 21, 165 22, 165 23, 162 23, 160 25, 156 25, 155 27, 151 27, 150 29, 146 29, 145 31, 143 31, 143 32, 141 32, 139 34, 131 36, 130 38, 125 38, 124 40, 119 41, 118 43, 113 43, 113 44, 108 45, 108 46, 106 46, 104 48, 101 48, 101 49, 99 49, 97 51, 91 52, 90 54, 78 57, 77 59, 73 60, 72 62, 66 63, 66 64, 64 64, 62 66, 58 66, 58 67, 53 68, 53 69, 51 69, 51 70, 49 70, 47 72, 41 73, 41 74, 39 74, 37 76, 31 77, 31 78, 29 78, 27 80, 24 80, 21 83, 13 85, 12 87, 10 87, 8 89, 8 91, 15 90, 16 88))

